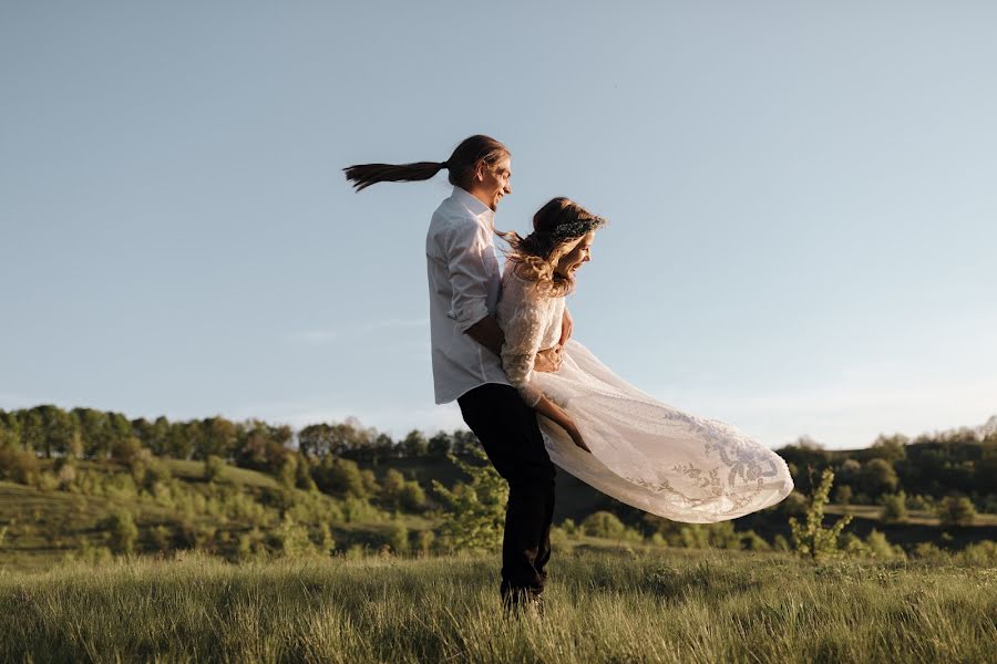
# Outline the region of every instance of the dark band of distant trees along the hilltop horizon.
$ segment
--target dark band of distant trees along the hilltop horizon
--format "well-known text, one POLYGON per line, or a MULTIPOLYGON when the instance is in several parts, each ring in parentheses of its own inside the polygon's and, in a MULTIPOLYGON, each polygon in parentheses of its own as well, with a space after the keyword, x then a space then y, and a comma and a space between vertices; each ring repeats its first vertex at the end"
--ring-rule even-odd
MULTIPOLYGON (((160 457, 206 460, 219 457, 239 467, 279 475, 288 465, 316 474, 336 459, 362 466, 390 465, 392 459, 470 456, 477 440, 471 432, 419 430, 402 439, 362 426, 354 419, 322 423, 295 430, 258 419, 232 422, 208 417, 171 422, 157 417, 129 419, 92 408, 64 411, 41 405, 0 411, 0 478, 3 450, 47 458, 126 460, 148 450, 160 457)), ((974 429, 925 434, 914 439, 880 436, 870 447, 828 450, 801 438, 777 450, 789 464, 796 489, 809 492, 821 471, 835 474, 833 499, 839 504, 876 504, 903 491, 906 500, 931 508, 949 496, 969 498, 980 511, 997 512, 997 433, 974 429)))

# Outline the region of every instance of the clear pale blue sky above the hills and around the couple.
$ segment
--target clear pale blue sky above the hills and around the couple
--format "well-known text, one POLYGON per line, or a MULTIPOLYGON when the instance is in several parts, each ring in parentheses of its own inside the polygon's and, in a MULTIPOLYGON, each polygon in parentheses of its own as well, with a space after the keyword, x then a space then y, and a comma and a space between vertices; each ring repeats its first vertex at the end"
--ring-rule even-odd
POLYGON ((997 413, 989 2, 0 3, 0 407, 131 417, 434 406, 425 228, 513 153, 496 225, 611 225, 575 336, 771 446, 997 413))

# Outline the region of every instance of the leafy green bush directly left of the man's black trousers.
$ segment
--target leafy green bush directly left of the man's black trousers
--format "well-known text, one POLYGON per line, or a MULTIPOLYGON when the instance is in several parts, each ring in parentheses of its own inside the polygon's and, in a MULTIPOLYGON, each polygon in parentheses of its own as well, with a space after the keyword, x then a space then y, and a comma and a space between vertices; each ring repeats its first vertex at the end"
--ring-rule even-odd
POLYGON ((472 448, 475 464, 451 454, 448 458, 471 477, 448 489, 433 480, 433 491, 444 507, 440 533, 455 549, 493 549, 502 541, 508 485, 487 461, 481 448, 472 448))

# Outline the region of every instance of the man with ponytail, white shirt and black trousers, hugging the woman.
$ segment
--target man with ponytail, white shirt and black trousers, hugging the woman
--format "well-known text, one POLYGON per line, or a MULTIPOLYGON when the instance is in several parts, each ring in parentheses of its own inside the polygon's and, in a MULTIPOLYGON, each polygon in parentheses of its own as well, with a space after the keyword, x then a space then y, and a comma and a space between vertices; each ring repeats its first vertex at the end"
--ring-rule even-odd
MULTIPOLYGON (((503 334, 495 321, 501 271, 494 214, 512 194, 508 149, 487 136, 463 141, 446 162, 346 169, 357 190, 379 181, 413 181, 449 170, 451 196, 433 212, 425 238, 435 401, 456 400, 464 422, 508 481, 500 593, 506 609, 541 608, 551 558, 554 464, 536 413, 502 369, 503 334)), ((556 371, 571 334, 565 311, 561 343, 537 355, 536 371, 556 371)))

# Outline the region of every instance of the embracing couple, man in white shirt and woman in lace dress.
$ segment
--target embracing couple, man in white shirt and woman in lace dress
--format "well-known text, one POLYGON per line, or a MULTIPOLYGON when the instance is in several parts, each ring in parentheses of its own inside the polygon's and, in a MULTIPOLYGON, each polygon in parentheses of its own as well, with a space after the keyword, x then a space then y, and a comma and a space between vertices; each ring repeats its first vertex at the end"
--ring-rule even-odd
POLYGON ((508 481, 500 587, 506 606, 537 605, 543 592, 555 464, 676 521, 734 519, 789 495, 792 479, 772 450, 640 392, 571 339, 565 297, 606 221, 554 198, 534 215, 526 237, 497 232, 495 210, 512 194, 504 145, 471 136, 442 163, 345 170, 361 190, 426 180, 442 169, 453 194, 433 214, 425 241, 435 397, 438 404, 456 400, 508 481), (502 271, 495 235, 510 245, 502 271))

